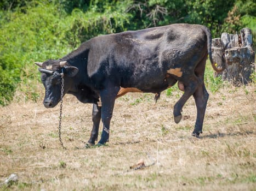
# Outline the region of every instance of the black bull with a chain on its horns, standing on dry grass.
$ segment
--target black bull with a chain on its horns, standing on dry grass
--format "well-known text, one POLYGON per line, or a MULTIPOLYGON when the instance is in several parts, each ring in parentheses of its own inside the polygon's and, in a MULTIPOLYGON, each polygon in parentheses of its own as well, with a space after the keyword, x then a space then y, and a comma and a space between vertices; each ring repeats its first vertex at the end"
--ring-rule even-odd
POLYGON ((53 108, 60 101, 61 76, 64 94, 70 93, 82 103, 93 104, 93 129, 88 141, 98 139, 100 119, 103 132, 98 144, 109 140, 110 120, 117 97, 127 92, 160 93, 178 81, 183 96, 174 105, 174 121, 190 96, 195 98, 197 117, 193 135, 202 133, 209 94, 204 86, 207 55, 212 61, 211 32, 205 26, 174 24, 169 26, 101 35, 83 43, 58 60, 50 59, 41 67, 45 87, 44 106, 53 108))

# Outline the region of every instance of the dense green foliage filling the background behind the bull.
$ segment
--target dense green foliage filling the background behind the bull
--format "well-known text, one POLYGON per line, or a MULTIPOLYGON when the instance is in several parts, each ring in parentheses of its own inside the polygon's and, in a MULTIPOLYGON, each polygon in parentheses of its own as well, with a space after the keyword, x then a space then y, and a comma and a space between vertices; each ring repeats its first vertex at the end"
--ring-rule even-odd
POLYGON ((255 7, 253 0, 3 0, 0 105, 12 100, 17 87, 36 100, 33 62, 60 58, 96 35, 178 22, 206 25, 213 36, 245 26, 256 31, 255 7))

